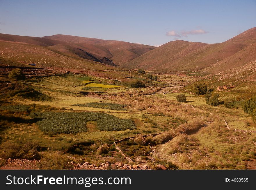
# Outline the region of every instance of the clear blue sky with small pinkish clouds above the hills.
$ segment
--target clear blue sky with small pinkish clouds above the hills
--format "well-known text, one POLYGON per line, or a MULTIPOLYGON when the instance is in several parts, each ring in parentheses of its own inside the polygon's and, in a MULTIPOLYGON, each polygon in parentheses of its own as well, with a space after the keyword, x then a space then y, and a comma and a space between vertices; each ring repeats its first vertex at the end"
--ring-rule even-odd
POLYGON ((160 46, 220 43, 256 27, 256 0, 0 0, 0 33, 55 34, 160 46))

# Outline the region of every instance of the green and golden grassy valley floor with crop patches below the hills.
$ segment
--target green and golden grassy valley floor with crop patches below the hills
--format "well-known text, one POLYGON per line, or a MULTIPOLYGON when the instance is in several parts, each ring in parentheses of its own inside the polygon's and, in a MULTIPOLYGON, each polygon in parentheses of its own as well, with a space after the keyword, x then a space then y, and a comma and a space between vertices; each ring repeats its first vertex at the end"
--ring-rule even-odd
POLYGON ((234 108, 210 106, 203 95, 193 94, 192 83, 201 76, 164 73, 156 82, 136 73, 128 80, 75 73, 25 81, 2 77, 12 87, 1 93, 0 158, 41 160, 45 165, 39 169, 70 169, 71 161, 127 163, 114 142, 132 137, 118 146, 133 163, 151 169, 159 163, 169 169, 255 169, 256 124, 242 109, 255 83, 218 92, 222 81, 203 79, 221 101, 240 102, 234 108), (145 86, 131 87, 136 79, 145 86), (244 96, 244 91, 250 93, 244 96), (180 94, 186 102, 177 102, 180 94), (49 154, 69 164, 47 165, 49 154))

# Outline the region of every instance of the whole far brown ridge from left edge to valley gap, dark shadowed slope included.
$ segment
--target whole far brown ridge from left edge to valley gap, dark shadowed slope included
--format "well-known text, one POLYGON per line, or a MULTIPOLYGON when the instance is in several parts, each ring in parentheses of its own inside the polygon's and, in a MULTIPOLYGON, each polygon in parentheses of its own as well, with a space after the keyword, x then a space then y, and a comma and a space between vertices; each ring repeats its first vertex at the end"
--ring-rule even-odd
POLYGON ((133 44, 123 41, 68 35, 54 35, 40 38, 0 34, 0 40, 43 46, 61 52, 67 56, 88 59, 90 61, 101 62, 111 66, 130 61, 155 48, 153 46, 133 44))

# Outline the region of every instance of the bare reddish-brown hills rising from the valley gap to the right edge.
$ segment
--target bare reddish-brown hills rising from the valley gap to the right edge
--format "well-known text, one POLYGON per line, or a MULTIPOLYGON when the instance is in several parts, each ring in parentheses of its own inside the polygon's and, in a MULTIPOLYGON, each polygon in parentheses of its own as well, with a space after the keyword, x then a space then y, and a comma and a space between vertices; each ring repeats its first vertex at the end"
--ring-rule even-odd
POLYGON ((218 44, 170 41, 122 68, 147 70, 203 70, 209 73, 228 70, 255 60, 256 28, 251 28, 230 40, 218 44), (235 64, 234 64, 235 63, 235 64))

